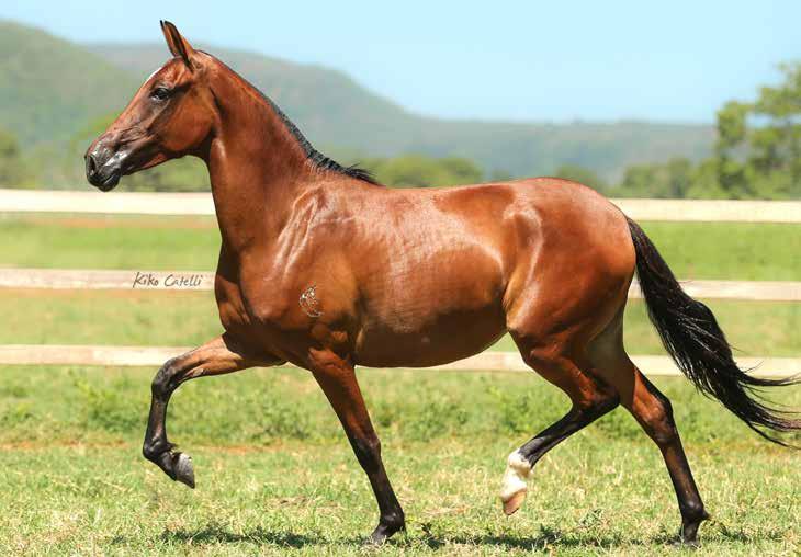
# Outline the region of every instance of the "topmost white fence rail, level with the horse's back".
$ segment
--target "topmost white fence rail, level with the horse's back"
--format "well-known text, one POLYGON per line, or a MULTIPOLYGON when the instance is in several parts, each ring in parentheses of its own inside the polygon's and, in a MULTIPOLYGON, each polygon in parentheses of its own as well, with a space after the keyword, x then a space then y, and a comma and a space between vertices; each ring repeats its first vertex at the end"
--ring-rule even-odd
MULTIPOLYGON (((635 220, 801 223, 798 201, 612 200, 635 220)), ((0 213, 214 215, 210 193, 0 189, 0 213)))

